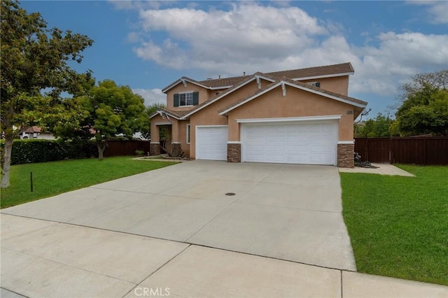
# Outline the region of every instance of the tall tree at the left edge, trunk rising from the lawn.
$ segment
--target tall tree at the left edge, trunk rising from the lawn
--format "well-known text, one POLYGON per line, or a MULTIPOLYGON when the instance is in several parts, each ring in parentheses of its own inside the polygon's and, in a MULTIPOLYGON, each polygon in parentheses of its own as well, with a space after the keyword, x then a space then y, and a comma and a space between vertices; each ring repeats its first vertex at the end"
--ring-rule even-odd
POLYGON ((73 121, 74 115, 64 113, 59 95, 82 89, 88 74, 76 73, 69 61, 80 63, 80 52, 93 41, 71 31, 47 29, 39 13, 27 13, 18 1, 2 0, 0 17, 0 128, 5 137, 1 187, 8 187, 14 137, 31 125, 73 121))

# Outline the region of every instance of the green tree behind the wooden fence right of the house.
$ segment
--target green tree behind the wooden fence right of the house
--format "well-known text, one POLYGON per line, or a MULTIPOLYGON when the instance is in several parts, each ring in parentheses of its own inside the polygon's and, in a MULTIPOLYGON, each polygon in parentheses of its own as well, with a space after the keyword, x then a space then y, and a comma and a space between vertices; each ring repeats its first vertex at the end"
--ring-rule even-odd
POLYGON ((402 86, 396 115, 400 135, 448 135, 448 70, 421 73, 402 86))

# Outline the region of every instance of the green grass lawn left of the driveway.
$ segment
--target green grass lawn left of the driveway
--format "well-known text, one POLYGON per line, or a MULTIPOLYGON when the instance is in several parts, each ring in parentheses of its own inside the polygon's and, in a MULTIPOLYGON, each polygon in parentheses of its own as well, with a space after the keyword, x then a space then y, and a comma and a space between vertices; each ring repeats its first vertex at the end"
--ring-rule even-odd
POLYGON ((172 164, 176 162, 142 161, 132 157, 18 164, 11 166, 11 186, 1 190, 0 205, 1 208, 15 206, 172 164), (33 172, 34 192, 30 190, 30 172, 33 172))

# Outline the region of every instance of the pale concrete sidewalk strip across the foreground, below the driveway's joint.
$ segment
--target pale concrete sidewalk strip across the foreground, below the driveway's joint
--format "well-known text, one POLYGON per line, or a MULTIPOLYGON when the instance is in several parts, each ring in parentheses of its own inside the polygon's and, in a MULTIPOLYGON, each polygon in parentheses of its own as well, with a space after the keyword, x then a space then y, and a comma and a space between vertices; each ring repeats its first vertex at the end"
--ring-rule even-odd
POLYGON ((0 216, 1 297, 448 297, 442 285, 0 216))

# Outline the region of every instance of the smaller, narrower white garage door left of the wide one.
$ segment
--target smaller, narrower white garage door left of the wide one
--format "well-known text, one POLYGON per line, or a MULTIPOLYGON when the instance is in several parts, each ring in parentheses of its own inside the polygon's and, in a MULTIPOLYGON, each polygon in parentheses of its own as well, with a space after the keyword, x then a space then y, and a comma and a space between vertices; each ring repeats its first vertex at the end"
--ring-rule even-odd
POLYGON ((227 126, 196 127, 196 159, 227 160, 227 126))

